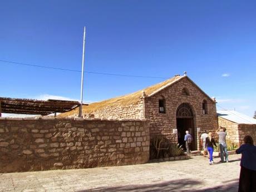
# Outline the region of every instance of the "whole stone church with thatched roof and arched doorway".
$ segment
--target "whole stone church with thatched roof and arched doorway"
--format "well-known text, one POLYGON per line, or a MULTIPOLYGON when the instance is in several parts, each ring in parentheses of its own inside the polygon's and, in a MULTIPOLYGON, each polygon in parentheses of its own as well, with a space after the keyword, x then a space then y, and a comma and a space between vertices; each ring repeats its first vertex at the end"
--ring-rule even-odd
MULTIPOLYGON (((215 99, 186 74, 129 95, 83 106, 82 114, 86 118, 147 119, 151 138, 161 135, 181 145, 185 131, 189 130, 194 138, 192 150, 200 148, 202 131, 218 128, 215 99)), ((78 109, 61 116, 78 116, 78 109)))

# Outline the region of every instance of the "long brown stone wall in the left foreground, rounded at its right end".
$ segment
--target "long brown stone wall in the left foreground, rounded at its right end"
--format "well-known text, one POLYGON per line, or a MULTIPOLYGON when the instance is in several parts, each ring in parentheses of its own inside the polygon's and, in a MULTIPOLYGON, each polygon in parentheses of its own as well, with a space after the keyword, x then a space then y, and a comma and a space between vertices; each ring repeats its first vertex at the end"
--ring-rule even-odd
POLYGON ((146 163, 146 120, 0 117, 0 172, 146 163))

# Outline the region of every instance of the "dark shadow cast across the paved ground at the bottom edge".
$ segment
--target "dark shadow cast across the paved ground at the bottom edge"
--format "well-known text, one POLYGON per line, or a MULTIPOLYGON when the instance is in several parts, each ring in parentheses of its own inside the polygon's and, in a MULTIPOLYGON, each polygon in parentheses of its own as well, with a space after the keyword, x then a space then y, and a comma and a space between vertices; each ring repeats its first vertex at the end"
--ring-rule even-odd
POLYGON ((192 179, 180 179, 180 180, 171 180, 165 181, 163 183, 152 183, 147 185, 124 185, 124 186, 115 186, 115 187, 102 187, 95 189, 87 189, 87 190, 79 190, 77 192, 127 192, 127 191, 140 191, 140 192, 153 192, 153 191, 161 191, 161 192, 188 192, 188 191, 229 191, 229 192, 237 192, 238 190, 238 180, 229 180, 225 181, 225 184, 215 186, 214 188, 204 188, 204 189, 196 189, 197 186, 204 186, 205 183, 201 181, 196 181, 192 179))

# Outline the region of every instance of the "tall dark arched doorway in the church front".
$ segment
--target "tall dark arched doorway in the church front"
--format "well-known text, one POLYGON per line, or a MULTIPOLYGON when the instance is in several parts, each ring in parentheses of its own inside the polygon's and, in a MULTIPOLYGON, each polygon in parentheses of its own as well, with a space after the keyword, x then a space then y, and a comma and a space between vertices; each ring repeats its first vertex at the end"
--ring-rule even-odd
POLYGON ((193 111, 188 103, 181 104, 176 111, 176 122, 178 130, 178 142, 179 145, 183 146, 183 149, 186 148, 184 137, 186 130, 193 137, 193 143, 191 144, 191 150, 195 149, 195 137, 194 137, 194 120, 193 120, 193 111))

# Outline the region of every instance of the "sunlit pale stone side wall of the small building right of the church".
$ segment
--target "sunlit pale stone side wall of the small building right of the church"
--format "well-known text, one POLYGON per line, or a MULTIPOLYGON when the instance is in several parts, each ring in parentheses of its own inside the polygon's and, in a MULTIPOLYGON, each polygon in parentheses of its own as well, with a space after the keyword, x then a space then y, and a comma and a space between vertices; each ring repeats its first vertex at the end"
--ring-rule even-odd
POLYGON ((238 124, 235 124, 232 121, 225 120, 221 117, 218 117, 219 126, 225 127, 227 129, 227 140, 234 142, 234 144, 240 146, 239 141, 239 131, 238 131, 238 124))

